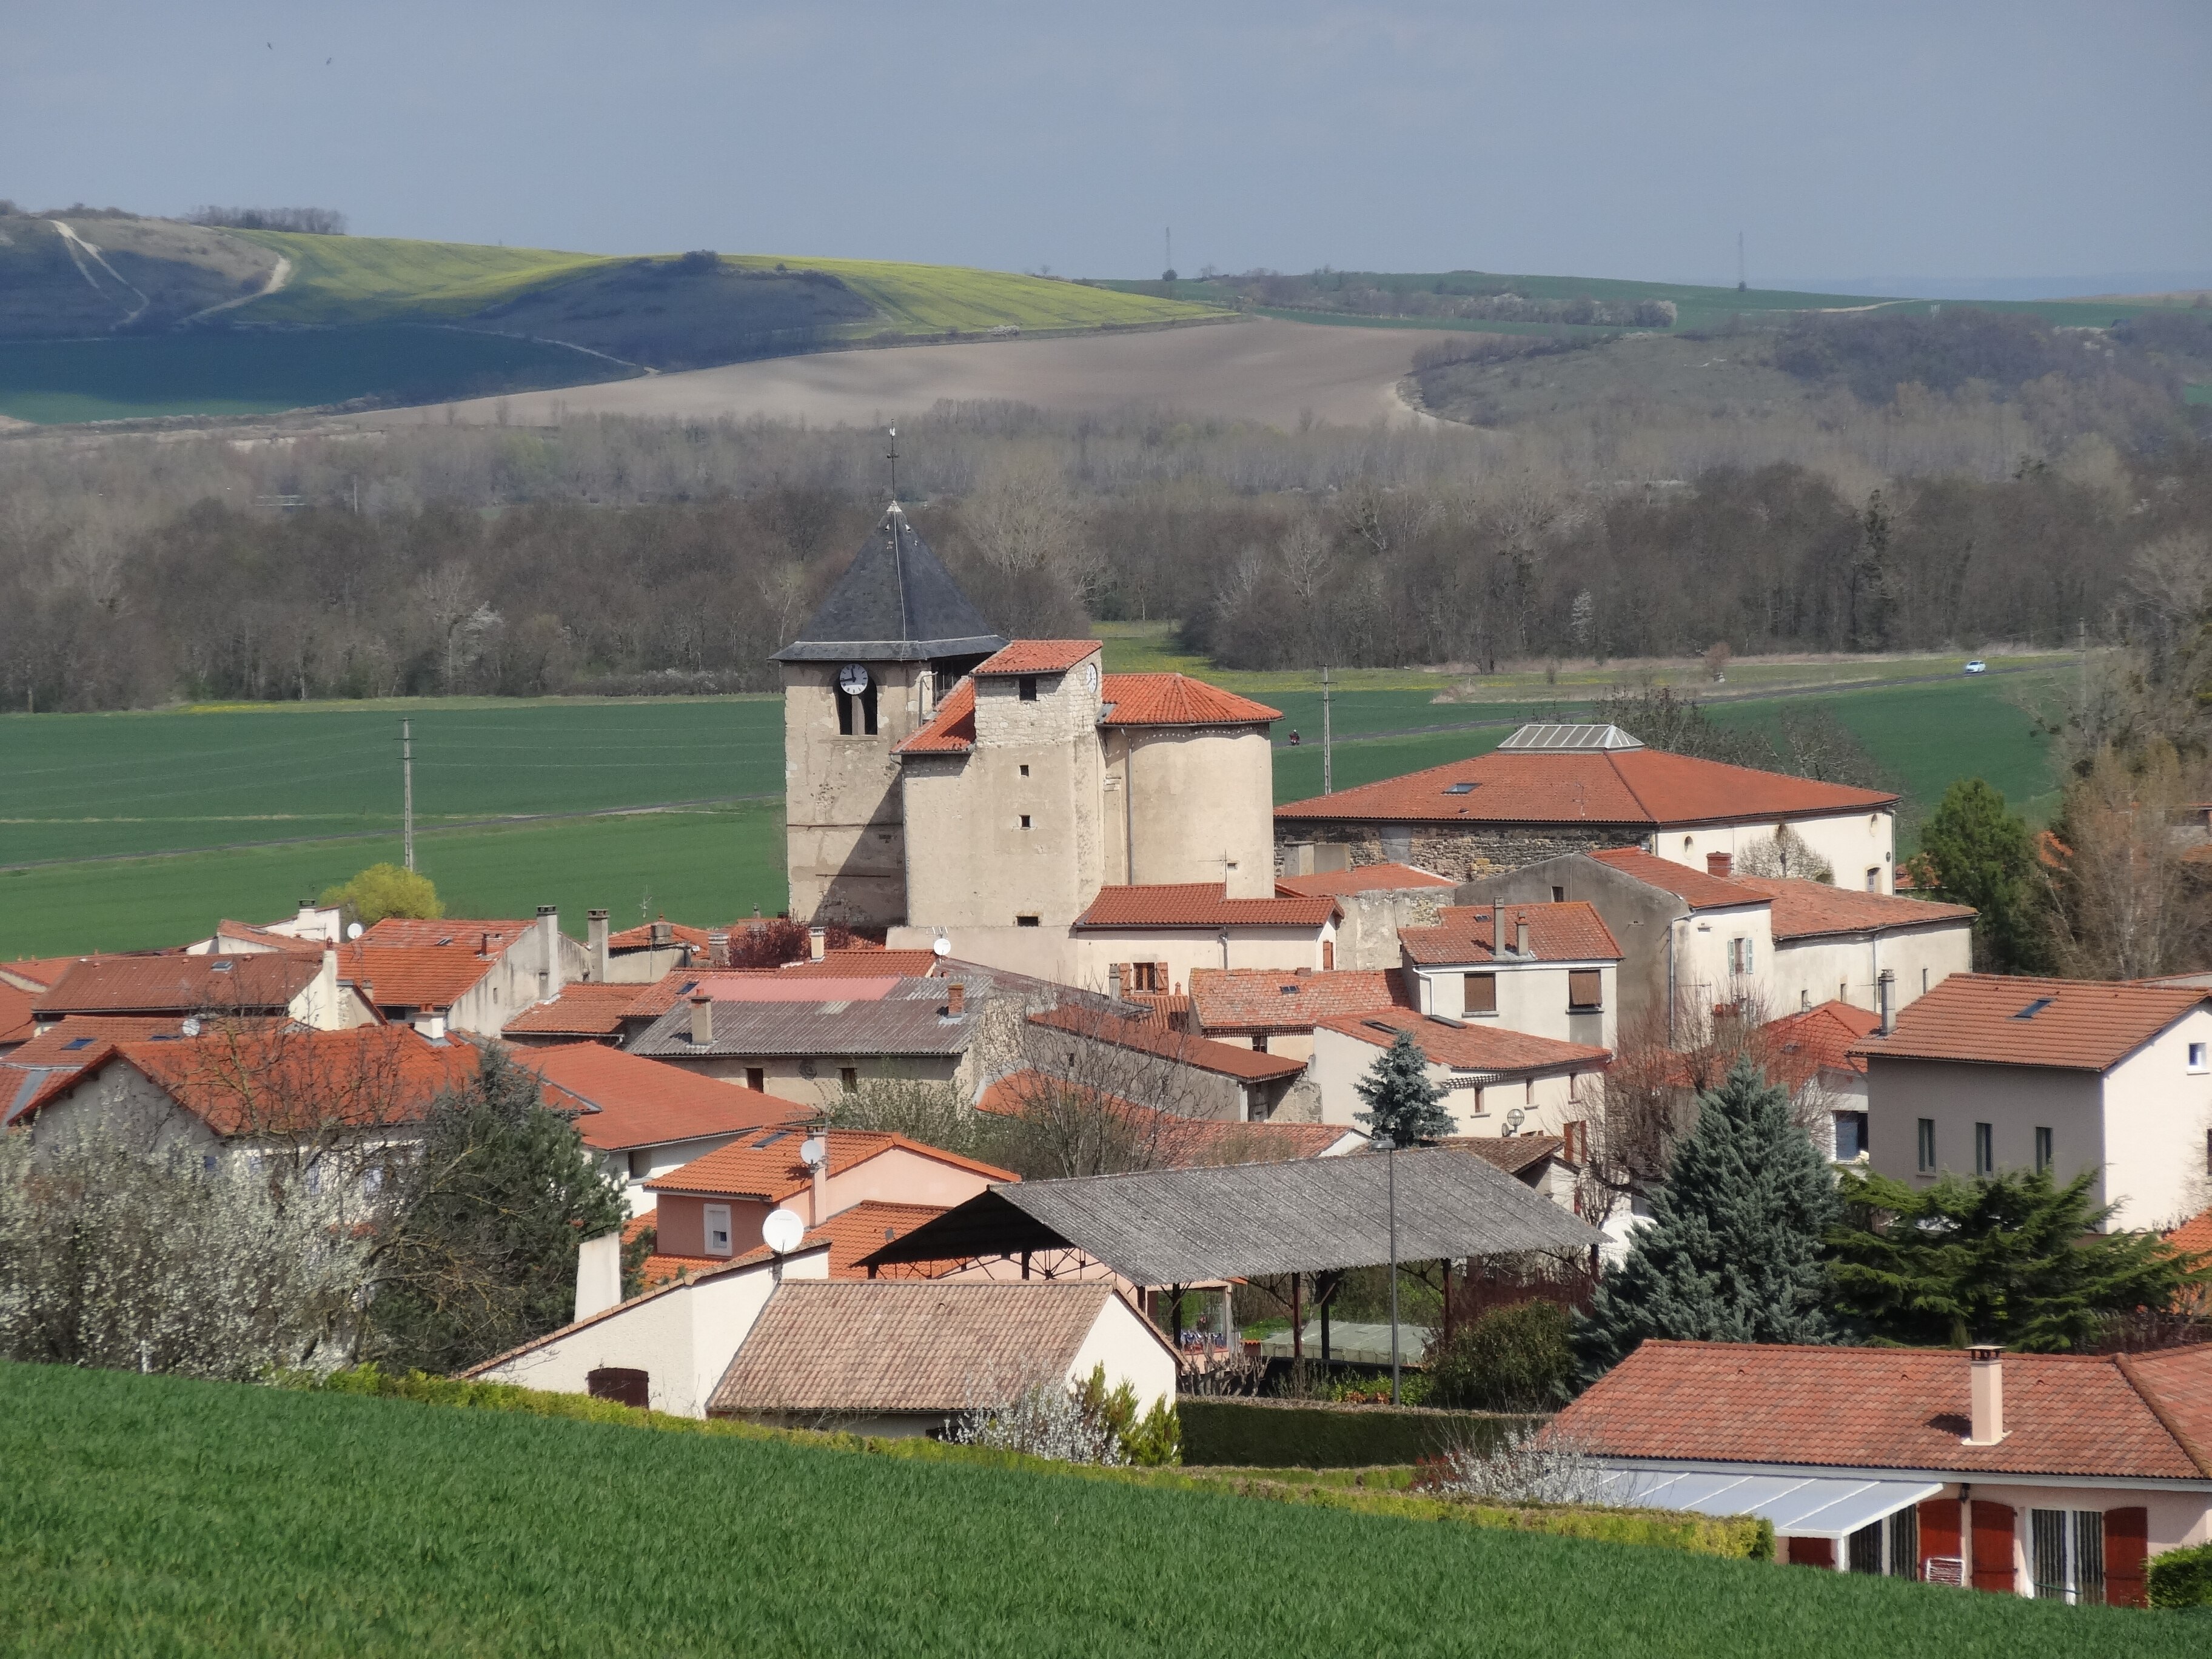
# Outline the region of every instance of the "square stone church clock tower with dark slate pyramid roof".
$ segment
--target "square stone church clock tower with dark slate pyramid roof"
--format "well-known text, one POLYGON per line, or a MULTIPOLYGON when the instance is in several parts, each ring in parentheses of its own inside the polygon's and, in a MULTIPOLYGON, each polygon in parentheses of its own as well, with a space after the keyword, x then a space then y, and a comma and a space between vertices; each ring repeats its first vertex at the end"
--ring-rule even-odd
MULTIPOLYGON (((783 666, 783 825, 792 916, 891 927, 907 918, 900 741, 1006 641, 969 604, 894 500, 783 666)), ((958 825, 938 825, 958 834, 958 825)))

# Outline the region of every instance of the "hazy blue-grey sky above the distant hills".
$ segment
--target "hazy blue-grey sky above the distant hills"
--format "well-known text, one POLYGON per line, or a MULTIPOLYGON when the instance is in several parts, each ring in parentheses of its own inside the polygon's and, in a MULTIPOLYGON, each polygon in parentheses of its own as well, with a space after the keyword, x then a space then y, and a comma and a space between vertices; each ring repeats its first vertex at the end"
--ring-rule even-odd
POLYGON ((2208 0, 0 0, 0 40, 33 210, 1068 276, 1157 276, 1172 228, 1183 274, 1734 283, 1741 232, 1754 285, 2212 283, 2208 0))

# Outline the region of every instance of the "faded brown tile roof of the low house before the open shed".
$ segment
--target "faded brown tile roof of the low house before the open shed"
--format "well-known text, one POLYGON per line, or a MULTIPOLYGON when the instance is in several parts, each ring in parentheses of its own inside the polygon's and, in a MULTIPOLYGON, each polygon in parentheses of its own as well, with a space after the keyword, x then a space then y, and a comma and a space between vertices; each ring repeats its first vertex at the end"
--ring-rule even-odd
POLYGON ((787 1279, 730 1358, 708 1416, 951 1413, 1060 1380, 1113 1296, 1106 1283, 787 1279))

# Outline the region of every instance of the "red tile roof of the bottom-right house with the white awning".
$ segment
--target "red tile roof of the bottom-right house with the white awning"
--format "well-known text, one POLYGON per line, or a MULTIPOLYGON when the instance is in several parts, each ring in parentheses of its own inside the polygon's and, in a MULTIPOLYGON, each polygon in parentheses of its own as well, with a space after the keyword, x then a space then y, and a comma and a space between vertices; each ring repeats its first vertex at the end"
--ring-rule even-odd
POLYGON ((1966 1365, 1955 1349, 1650 1340, 1566 1407, 1553 1433, 1601 1458, 1966 1478, 2212 1475, 2203 1462, 2212 1345, 2137 1356, 2006 1354, 2006 1436, 1993 1447, 1960 1444, 1973 1411, 1966 1365))

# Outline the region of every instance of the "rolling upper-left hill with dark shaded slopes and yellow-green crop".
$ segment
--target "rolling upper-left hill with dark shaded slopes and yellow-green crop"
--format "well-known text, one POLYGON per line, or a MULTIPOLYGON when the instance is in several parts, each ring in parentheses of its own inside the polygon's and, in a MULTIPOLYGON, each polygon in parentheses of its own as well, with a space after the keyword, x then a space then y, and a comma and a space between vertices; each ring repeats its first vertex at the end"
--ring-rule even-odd
POLYGON ((894 261, 604 257, 9 212, 0 215, 0 416, 438 403, 860 343, 1221 314, 1046 276, 894 261))

